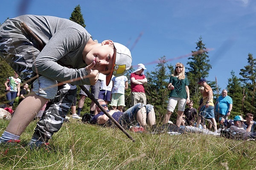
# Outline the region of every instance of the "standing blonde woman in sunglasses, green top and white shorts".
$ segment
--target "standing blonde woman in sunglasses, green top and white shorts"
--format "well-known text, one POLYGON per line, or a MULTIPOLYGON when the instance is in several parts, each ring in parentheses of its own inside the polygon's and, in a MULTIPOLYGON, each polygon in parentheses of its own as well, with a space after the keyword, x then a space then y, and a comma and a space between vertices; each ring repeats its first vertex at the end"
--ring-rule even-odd
POLYGON ((180 127, 186 103, 190 102, 188 85, 188 79, 185 77, 185 67, 182 63, 178 62, 175 65, 174 74, 171 75, 168 84, 168 89, 171 90, 171 92, 169 95, 167 112, 163 119, 163 124, 166 124, 169 121, 170 116, 172 115, 178 103, 178 116, 176 119, 176 125, 180 127))

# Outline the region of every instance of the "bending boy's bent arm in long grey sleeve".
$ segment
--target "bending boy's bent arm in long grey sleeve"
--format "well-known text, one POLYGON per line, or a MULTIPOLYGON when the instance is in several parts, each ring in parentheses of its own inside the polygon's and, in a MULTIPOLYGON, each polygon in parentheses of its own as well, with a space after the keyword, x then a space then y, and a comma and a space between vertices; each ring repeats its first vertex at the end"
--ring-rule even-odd
MULTIPOLYGON (((80 34, 79 31, 75 29, 68 28, 59 30, 53 34, 52 38, 47 42, 44 49, 35 59, 35 62, 32 65, 32 70, 59 82, 71 80, 73 85, 95 84, 96 81, 93 82, 92 80, 91 82, 91 79, 97 77, 97 75, 94 75, 95 71, 91 71, 91 68, 93 67, 79 69, 67 68, 57 62, 67 54, 79 51, 82 40, 84 39, 84 35, 80 34), (88 74, 92 74, 93 77, 90 77, 90 79, 87 78, 88 74)), ((78 57, 74 57, 73 59, 78 59, 78 57)))

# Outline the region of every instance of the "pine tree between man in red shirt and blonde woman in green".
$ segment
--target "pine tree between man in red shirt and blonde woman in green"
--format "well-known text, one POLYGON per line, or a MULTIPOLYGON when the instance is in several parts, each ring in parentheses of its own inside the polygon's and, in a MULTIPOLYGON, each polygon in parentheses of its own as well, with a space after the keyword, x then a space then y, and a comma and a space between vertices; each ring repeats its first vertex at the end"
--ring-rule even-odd
POLYGON ((168 65, 166 57, 163 56, 159 59, 154 71, 146 74, 148 80, 148 83, 145 85, 147 103, 154 105, 157 121, 160 121, 166 113, 169 99, 167 85, 172 72, 172 65, 168 65))

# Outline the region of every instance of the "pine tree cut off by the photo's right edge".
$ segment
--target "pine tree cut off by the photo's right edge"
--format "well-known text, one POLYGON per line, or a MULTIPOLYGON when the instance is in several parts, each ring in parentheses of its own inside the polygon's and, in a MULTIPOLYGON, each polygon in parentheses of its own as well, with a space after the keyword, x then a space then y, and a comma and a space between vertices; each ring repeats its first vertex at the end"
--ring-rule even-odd
POLYGON ((253 54, 248 54, 248 65, 240 69, 240 75, 242 76, 241 82, 244 86, 244 113, 254 113, 256 111, 255 105, 255 92, 256 92, 256 59, 253 58, 253 54))

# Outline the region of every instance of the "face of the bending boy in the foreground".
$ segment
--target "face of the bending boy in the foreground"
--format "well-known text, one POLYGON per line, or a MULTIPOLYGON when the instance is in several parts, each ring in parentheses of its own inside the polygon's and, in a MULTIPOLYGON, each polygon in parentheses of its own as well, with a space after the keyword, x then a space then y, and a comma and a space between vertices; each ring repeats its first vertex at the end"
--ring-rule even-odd
POLYGON ((99 44, 88 52, 85 62, 89 65, 95 61, 95 66, 92 70, 98 70, 100 73, 108 75, 111 71, 112 65, 114 64, 113 55, 115 52, 113 45, 99 44))

